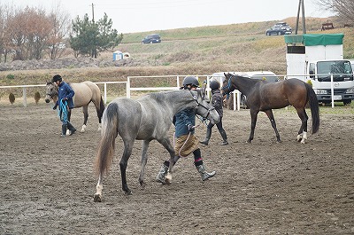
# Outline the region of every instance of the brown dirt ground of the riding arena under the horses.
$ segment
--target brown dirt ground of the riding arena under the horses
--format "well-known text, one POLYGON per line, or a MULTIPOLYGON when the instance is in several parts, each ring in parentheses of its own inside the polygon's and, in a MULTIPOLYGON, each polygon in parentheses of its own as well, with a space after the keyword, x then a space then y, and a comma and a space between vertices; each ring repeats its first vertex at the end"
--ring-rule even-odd
MULTIPOLYGON (((274 111, 281 143, 262 113, 252 144, 249 111, 225 110, 230 145, 218 145, 215 127, 210 145, 201 146, 207 170, 217 172, 206 182, 189 156, 177 163, 173 184, 156 183, 168 153, 154 141, 142 190, 137 141, 129 196, 121 190, 117 138, 101 203, 93 201, 100 133, 93 106, 89 112, 87 132, 59 138, 50 105, 0 105, 0 234, 354 234, 352 110, 322 112, 319 133, 305 145, 296 142, 300 120, 291 108, 274 111)), ((74 110, 73 124, 81 121, 74 110)), ((196 129, 200 139, 204 133, 196 129)))

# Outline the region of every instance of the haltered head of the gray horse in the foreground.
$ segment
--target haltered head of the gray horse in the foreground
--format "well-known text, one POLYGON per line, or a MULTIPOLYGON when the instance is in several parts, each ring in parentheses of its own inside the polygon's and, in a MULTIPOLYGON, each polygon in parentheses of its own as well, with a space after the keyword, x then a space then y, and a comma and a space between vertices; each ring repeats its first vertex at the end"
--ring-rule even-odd
POLYGON ((193 94, 193 98, 196 100, 197 104, 196 114, 208 119, 212 124, 218 123, 220 121, 219 114, 211 105, 209 98, 205 94, 205 89, 196 90, 196 96, 193 94))

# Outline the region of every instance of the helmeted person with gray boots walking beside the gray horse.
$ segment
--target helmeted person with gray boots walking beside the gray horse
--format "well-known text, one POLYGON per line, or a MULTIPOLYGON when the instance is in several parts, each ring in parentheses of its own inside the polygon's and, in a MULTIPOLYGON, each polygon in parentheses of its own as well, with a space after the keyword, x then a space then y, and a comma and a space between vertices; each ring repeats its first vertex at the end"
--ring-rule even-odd
MULTIPOLYGON (((183 80, 182 90, 196 90, 199 82, 194 76, 187 76, 183 80)), ((215 176, 215 171, 206 172, 202 154, 198 146, 199 140, 194 135, 196 125, 196 110, 194 108, 184 109, 173 117, 173 125, 175 126, 175 145, 174 152, 177 156, 174 163, 179 160, 180 156, 187 157, 190 153, 194 155, 194 164, 197 171, 202 176, 202 180, 207 180, 215 176)), ((165 161, 156 177, 157 182, 165 184, 165 176, 169 168, 170 162, 165 161)))

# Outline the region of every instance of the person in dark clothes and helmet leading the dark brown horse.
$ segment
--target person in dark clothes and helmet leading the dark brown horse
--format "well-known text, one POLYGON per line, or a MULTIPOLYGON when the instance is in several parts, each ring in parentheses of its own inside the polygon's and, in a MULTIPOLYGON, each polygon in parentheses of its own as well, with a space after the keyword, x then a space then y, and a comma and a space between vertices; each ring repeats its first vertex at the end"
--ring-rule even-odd
MULTIPOLYGON (((216 127, 219 129, 219 133, 223 139, 223 141, 219 144, 219 145, 228 145, 227 142, 227 132, 225 131, 225 129, 222 128, 222 116, 223 116, 223 109, 222 109, 222 95, 221 92, 219 90, 219 82, 212 80, 210 82, 210 88, 212 90, 212 106, 215 108, 215 110, 218 112, 219 116, 220 116, 220 121, 216 124, 216 127)), ((208 145, 209 144, 209 140, 212 137, 212 127, 214 126, 214 124, 212 124, 211 122, 209 122, 207 128, 206 128, 206 136, 204 138, 203 141, 201 141, 200 143, 203 145, 208 145)))

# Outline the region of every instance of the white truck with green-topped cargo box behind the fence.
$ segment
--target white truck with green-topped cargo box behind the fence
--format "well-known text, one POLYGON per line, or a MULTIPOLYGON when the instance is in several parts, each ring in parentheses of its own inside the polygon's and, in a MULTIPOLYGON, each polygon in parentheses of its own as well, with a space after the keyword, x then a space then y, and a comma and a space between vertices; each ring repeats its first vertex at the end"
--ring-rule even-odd
POLYGON ((320 103, 354 99, 353 70, 343 59, 343 34, 284 35, 287 43, 287 78, 312 84, 320 103), (333 96, 332 91, 333 90, 333 96))

